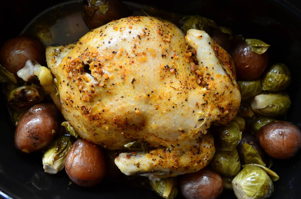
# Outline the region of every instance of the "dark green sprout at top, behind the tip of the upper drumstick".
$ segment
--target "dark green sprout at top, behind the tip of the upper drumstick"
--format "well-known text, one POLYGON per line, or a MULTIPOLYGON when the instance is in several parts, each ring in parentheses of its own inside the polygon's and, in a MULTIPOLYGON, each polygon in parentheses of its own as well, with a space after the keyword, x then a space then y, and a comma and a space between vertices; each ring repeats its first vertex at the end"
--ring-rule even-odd
POLYGON ((218 28, 217 24, 211 20, 207 19, 206 17, 201 17, 199 15, 188 16, 183 18, 183 31, 186 32, 189 29, 197 29, 197 30, 204 30, 206 32, 210 32, 211 28, 218 28))

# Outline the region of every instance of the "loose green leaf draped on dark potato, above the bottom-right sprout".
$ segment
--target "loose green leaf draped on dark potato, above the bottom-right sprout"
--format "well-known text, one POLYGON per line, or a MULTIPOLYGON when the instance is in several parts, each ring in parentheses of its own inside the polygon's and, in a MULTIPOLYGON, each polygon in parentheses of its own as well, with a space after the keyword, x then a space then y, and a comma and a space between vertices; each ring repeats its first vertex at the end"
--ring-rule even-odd
POLYGON ((244 160, 246 164, 260 164, 262 166, 265 166, 265 163, 262 161, 262 158, 260 157, 259 153, 256 151, 256 149, 248 144, 247 142, 243 143, 243 149, 244 149, 244 160))

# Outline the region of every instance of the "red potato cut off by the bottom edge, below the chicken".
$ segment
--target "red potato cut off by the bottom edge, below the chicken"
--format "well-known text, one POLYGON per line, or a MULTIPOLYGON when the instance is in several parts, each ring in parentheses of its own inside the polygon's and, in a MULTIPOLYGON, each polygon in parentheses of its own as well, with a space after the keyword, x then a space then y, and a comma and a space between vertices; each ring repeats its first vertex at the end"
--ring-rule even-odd
POLYGON ((223 191, 221 176, 209 167, 180 178, 180 188, 185 199, 215 199, 223 191))

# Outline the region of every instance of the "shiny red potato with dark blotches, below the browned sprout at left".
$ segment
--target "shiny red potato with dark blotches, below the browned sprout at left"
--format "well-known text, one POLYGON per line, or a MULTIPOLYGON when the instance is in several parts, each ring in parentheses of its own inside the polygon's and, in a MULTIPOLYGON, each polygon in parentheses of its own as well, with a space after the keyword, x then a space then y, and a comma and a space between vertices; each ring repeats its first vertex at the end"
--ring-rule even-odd
POLYGON ((31 107, 20 118, 15 130, 15 147, 26 153, 47 147, 59 131, 59 111, 53 103, 31 107))

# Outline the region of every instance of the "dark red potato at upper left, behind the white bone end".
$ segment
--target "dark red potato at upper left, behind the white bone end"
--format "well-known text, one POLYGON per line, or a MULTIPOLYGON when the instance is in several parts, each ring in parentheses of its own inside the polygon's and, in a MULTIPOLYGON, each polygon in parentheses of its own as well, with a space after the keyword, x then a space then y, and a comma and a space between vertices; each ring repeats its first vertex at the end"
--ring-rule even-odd
POLYGON ((45 47, 36 38, 18 36, 6 41, 0 50, 0 63, 17 77, 17 72, 29 59, 45 64, 45 47))

